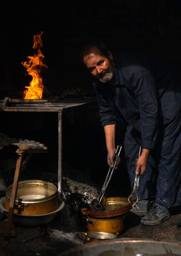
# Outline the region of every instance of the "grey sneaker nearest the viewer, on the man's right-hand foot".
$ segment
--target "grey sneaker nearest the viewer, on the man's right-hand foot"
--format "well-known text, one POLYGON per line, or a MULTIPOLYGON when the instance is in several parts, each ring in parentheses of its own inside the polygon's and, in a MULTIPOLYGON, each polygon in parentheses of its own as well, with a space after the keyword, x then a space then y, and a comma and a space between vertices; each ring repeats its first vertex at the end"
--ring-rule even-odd
POLYGON ((156 226, 169 218, 170 213, 166 207, 154 204, 149 213, 141 220, 141 224, 144 226, 156 226))

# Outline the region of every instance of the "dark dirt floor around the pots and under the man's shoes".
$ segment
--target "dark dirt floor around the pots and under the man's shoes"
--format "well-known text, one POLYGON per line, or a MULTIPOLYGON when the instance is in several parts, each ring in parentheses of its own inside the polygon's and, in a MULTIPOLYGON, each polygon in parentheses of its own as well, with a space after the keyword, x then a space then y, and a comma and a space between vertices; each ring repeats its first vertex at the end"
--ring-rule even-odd
MULTIPOLYGON (((140 218, 125 219, 124 231, 118 238, 148 238, 157 241, 181 242, 181 230, 177 230, 177 226, 169 225, 170 222, 178 222, 180 218, 180 214, 173 214, 169 220, 154 227, 142 226, 140 218)), ((16 226, 16 237, 7 240, 4 236, 6 220, 3 220, 0 222, 0 244, 13 256, 49 256, 50 254, 56 256, 71 247, 84 244, 81 231, 66 231, 64 226, 62 229, 61 225, 56 227, 56 222, 61 222, 60 215, 57 215, 51 223, 43 226, 16 226)))

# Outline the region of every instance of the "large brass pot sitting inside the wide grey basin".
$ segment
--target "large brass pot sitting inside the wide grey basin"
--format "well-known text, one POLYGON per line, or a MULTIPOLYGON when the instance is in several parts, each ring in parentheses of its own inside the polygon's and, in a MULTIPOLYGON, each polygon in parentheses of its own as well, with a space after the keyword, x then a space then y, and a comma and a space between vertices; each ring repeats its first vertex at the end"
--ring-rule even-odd
MULTIPOLYGON (((9 211, 12 185, 7 188, 4 208, 9 211)), ((25 180, 20 181, 17 187, 15 214, 41 215, 56 211, 58 204, 57 187, 48 181, 25 180)))

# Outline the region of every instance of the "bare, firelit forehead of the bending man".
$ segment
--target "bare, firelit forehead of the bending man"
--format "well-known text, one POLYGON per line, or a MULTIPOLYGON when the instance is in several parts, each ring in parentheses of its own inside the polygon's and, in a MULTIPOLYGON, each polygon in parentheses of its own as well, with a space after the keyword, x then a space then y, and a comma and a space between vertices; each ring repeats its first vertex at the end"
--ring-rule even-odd
POLYGON ((83 57, 84 63, 87 65, 92 65, 93 63, 97 63, 99 60, 106 58, 104 53, 102 53, 97 46, 93 46, 90 48, 83 57), (92 64, 91 64, 92 63, 92 64))

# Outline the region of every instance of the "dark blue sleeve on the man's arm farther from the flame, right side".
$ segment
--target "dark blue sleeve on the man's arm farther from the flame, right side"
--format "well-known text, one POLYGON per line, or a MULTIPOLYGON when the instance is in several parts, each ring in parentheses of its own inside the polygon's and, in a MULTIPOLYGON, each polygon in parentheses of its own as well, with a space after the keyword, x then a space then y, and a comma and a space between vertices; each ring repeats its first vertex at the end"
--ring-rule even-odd
POLYGON ((141 140, 142 148, 154 148, 158 135, 158 97, 154 76, 148 71, 137 77, 133 84, 136 101, 139 104, 140 119, 142 123, 141 140))

